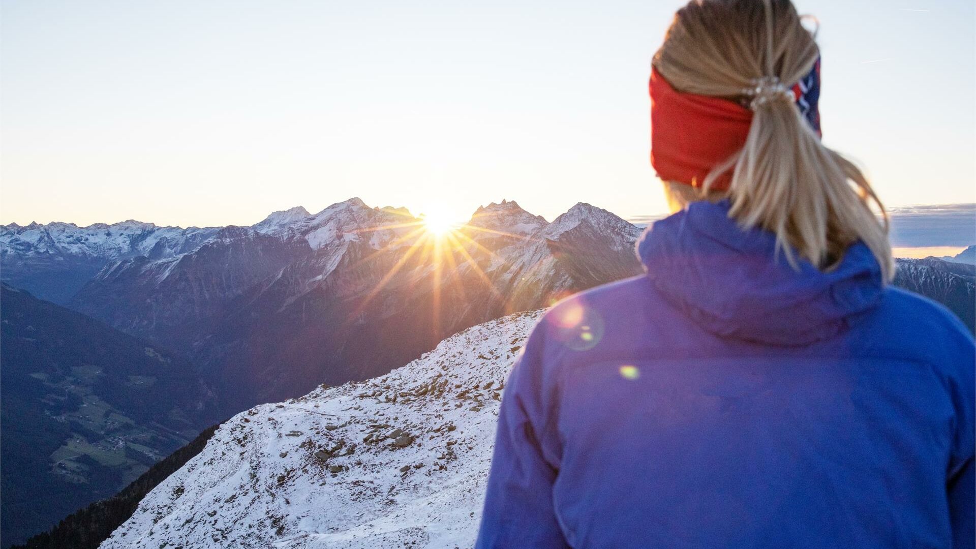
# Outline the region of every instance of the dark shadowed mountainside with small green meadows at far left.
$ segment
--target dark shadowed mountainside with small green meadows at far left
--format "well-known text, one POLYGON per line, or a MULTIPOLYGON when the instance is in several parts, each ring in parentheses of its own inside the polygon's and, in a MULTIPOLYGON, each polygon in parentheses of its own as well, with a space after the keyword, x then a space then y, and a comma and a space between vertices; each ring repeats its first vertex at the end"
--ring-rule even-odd
POLYGON ((185 360, 6 283, 0 305, 5 546, 114 494, 213 422, 217 401, 185 360))

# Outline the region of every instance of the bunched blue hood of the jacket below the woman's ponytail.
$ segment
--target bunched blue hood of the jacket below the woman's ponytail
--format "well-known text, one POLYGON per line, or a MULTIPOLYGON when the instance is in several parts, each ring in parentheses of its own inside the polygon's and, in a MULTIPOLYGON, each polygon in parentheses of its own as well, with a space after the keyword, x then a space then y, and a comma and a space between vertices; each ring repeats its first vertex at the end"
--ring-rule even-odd
POLYGON ((772 232, 741 228, 729 202, 694 202, 641 235, 637 254, 657 289, 712 333, 806 345, 842 331, 881 299, 881 270, 862 242, 821 272, 776 251, 772 232))

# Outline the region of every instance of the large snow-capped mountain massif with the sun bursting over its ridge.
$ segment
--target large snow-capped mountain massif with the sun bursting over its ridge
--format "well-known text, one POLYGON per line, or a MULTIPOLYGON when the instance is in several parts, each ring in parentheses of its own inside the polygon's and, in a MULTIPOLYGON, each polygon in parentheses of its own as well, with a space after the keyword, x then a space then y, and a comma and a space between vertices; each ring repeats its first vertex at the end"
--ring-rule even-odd
POLYGON ((641 272, 640 230, 579 203, 503 200, 443 240, 358 198, 275 212, 194 249, 108 262, 70 306, 191 356, 228 412, 384 373, 451 333, 641 272))

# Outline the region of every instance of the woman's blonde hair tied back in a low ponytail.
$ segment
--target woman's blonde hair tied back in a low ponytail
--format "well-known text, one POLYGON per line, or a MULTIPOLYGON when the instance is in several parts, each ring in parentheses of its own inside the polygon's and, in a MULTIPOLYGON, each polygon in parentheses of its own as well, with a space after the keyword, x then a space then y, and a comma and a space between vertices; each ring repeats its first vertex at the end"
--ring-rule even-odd
MULTIPOLYGON (((790 0, 692 0, 674 16, 653 64, 680 92, 754 110, 745 146, 712 169, 699 197, 713 199, 715 178, 734 168, 729 215, 744 227, 774 232, 793 266, 792 249, 829 270, 860 239, 890 280, 887 213, 868 179, 824 147, 782 87, 780 93, 753 95, 757 82, 793 85, 819 55, 790 0)), ((669 199, 687 200, 688 193, 677 194, 677 187, 666 186, 669 199)))

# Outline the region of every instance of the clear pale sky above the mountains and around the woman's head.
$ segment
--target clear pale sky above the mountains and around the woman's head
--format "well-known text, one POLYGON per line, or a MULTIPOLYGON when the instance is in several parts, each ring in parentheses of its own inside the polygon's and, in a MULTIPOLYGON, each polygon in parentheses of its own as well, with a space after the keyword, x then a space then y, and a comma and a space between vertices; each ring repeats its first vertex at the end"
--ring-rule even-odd
MULTIPOLYGON (((647 77, 678 1, 4 0, 0 222, 250 225, 359 196, 665 210, 647 77)), ((972 0, 797 0, 825 143, 888 205, 976 201, 972 0)))

